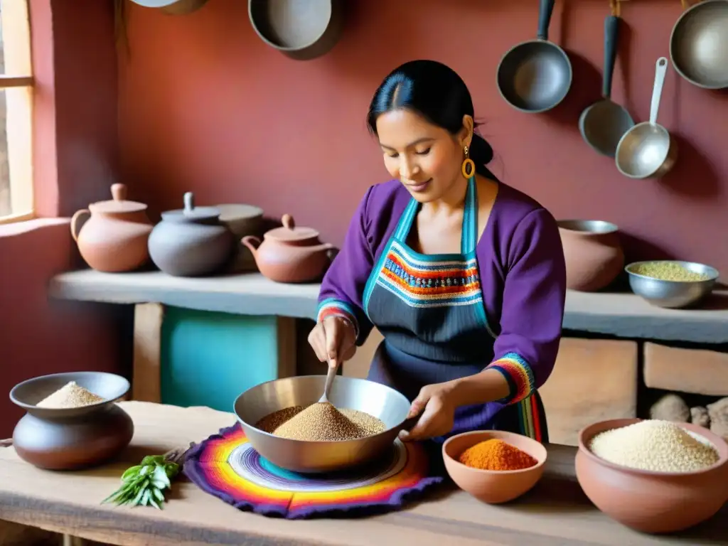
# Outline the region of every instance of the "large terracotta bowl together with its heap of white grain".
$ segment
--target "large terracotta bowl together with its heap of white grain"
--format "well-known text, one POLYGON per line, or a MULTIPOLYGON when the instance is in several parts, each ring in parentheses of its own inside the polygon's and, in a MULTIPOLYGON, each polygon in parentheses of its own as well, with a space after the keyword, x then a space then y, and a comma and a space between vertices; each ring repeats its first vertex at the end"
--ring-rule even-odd
POLYGON ((599 510, 645 533, 688 529, 728 501, 728 444, 696 424, 591 424, 579 432, 576 470, 599 510))

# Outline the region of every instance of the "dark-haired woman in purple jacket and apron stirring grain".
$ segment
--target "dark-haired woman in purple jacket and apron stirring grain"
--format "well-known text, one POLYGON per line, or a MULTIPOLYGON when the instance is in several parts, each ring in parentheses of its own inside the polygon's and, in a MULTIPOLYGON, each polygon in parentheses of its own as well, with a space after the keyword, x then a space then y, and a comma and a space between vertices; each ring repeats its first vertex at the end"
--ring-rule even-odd
POLYGON ((553 369, 566 293, 552 215, 485 167, 493 151, 451 68, 400 66, 367 122, 395 180, 360 202, 309 343, 337 366, 376 325, 384 341, 368 379, 411 400, 408 440, 495 428, 547 442, 537 389, 553 369))

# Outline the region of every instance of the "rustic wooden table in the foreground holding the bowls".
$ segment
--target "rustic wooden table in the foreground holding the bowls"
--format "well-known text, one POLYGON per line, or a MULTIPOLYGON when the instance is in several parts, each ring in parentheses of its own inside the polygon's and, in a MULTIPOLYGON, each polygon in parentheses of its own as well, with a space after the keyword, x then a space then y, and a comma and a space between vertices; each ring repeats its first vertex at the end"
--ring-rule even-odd
POLYGON ((445 488, 407 510, 371 518, 285 521, 243 513, 189 482, 165 510, 100 505, 122 471, 144 455, 185 446, 234 423, 232 414, 144 402, 122 405, 135 422, 119 462, 84 472, 45 472, 0 448, 0 519, 116 545, 576 546, 725 545, 728 507, 680 537, 652 537, 606 518, 574 477, 574 448, 550 446, 545 475, 529 494, 489 506, 445 488))

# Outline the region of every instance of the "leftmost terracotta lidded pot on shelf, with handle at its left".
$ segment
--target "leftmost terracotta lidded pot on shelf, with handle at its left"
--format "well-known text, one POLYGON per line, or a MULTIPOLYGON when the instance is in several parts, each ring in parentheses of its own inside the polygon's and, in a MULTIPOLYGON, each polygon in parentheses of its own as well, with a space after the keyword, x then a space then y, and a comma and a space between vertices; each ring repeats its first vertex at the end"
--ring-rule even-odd
POLYGON ((111 186, 111 201, 100 201, 71 218, 71 235, 92 269, 107 273, 133 271, 149 260, 147 241, 152 224, 146 205, 127 201, 127 186, 111 186), (90 218, 78 227, 83 215, 90 218))

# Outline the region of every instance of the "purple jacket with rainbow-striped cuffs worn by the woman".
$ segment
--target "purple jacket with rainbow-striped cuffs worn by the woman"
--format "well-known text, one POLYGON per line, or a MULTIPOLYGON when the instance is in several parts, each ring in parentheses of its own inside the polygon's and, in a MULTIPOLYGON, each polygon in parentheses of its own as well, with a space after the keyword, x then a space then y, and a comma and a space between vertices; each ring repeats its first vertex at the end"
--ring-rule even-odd
MULTIPOLYGON (((371 186, 323 279, 318 320, 349 318, 359 345, 373 326, 362 309, 366 282, 410 199, 399 181, 371 186)), ((500 183, 476 252, 486 314, 497 335, 494 360, 483 367, 510 375, 518 388, 504 401, 515 403, 544 384, 555 363, 566 297, 561 237, 544 207, 500 183)))

